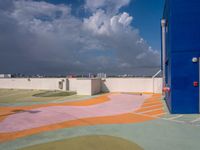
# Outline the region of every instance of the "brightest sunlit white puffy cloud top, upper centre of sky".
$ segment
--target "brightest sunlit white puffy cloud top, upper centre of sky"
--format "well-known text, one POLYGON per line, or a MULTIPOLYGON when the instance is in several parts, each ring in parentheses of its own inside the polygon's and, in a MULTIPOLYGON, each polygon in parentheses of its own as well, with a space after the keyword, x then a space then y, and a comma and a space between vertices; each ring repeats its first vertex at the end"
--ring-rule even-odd
POLYGON ((130 23, 132 19, 125 12, 110 17, 103 10, 97 10, 91 17, 84 19, 83 25, 93 34, 112 36, 131 31, 130 23))

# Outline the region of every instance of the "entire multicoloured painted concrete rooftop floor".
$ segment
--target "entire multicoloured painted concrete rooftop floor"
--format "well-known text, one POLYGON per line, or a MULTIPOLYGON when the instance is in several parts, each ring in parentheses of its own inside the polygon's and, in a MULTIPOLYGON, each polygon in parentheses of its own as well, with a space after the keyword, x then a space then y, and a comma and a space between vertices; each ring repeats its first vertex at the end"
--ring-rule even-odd
POLYGON ((159 94, 108 93, 32 102, 31 91, 28 96, 12 92, 0 90, 2 150, 200 149, 200 115, 169 114, 159 94), (1 101, 6 97, 9 103, 1 101))

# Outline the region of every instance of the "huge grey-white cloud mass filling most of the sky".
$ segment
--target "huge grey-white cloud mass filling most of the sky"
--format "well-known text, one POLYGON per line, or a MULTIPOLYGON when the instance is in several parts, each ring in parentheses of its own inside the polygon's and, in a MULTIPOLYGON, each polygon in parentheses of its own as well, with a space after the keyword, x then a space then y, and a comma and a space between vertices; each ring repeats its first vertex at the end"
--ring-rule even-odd
POLYGON ((12 1, 12 10, 2 10, 9 16, 1 14, 0 42, 4 44, 0 49, 5 51, 0 56, 0 68, 7 57, 18 72, 146 74, 149 70, 145 67, 159 65, 159 53, 131 26, 133 17, 118 12, 129 2, 86 0, 85 7, 92 14, 77 18, 67 5, 12 1), (26 67, 23 60, 29 62, 26 67))

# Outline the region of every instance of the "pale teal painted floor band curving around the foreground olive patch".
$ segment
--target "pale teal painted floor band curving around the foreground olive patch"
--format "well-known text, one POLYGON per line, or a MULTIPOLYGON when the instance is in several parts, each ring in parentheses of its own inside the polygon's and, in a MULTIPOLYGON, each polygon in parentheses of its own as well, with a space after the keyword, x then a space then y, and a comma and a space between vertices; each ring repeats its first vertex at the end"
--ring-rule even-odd
POLYGON ((145 150, 199 150, 200 148, 200 127, 158 119, 138 124, 98 125, 43 132, 2 143, 0 149, 14 150, 85 135, 121 137, 137 143, 145 150))

